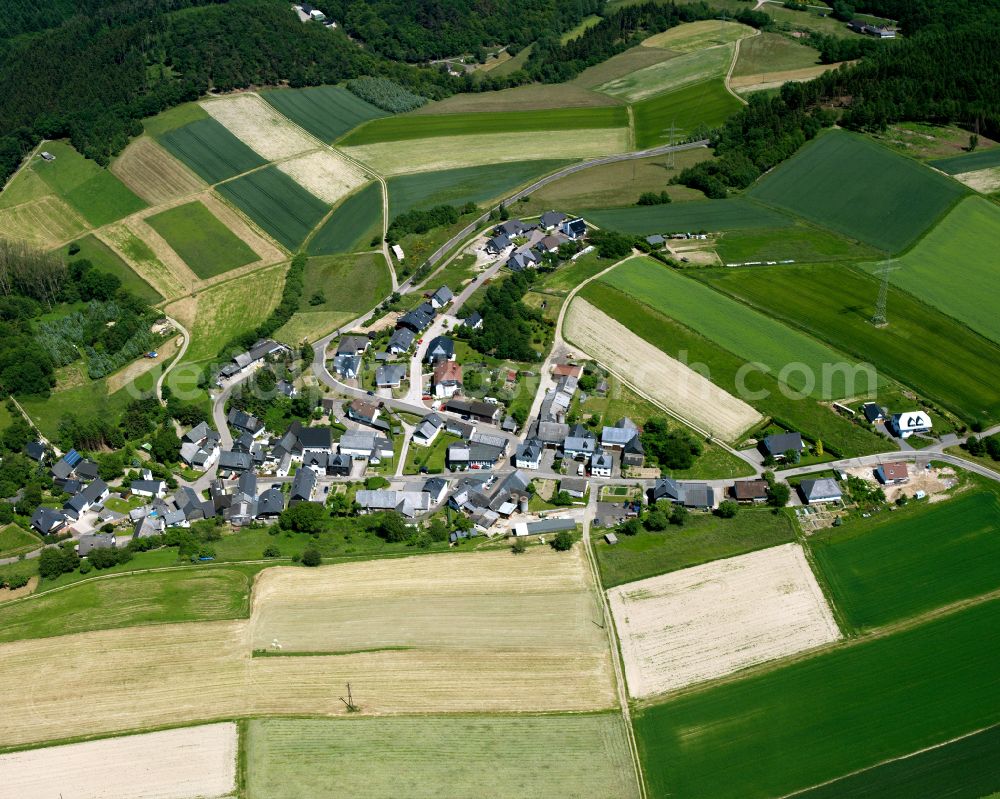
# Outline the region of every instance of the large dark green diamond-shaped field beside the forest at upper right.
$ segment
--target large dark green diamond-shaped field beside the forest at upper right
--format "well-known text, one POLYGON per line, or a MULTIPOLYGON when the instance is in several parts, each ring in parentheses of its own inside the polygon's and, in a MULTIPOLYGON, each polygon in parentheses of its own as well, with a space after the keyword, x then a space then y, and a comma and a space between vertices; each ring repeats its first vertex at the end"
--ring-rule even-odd
POLYGON ((888 252, 910 246, 964 194, 961 184, 844 131, 819 136, 750 189, 755 199, 888 252))

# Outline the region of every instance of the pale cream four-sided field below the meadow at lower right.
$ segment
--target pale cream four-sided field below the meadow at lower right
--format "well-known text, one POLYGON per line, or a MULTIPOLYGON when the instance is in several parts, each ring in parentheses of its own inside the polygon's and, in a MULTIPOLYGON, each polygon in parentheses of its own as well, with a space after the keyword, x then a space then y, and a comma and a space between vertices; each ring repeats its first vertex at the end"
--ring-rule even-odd
POLYGON ((797 544, 628 583, 608 597, 636 698, 840 638, 797 544))

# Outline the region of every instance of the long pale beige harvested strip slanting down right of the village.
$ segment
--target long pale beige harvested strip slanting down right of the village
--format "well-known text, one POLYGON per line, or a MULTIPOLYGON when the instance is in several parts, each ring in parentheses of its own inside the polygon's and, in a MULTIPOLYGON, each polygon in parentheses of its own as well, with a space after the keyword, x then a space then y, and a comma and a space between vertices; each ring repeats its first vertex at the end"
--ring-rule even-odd
POLYGON ((637 336, 579 297, 566 313, 563 335, 630 386, 681 418, 734 441, 761 416, 742 400, 637 336))

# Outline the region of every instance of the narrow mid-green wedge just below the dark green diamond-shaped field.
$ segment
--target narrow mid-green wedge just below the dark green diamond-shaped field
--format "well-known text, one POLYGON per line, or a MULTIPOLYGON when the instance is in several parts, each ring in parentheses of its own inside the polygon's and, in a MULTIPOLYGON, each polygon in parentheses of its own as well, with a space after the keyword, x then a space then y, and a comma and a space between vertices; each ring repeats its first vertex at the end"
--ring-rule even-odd
POLYGON ((716 241, 715 251, 727 264, 784 260, 809 263, 879 255, 874 247, 805 222, 774 230, 732 230, 716 241))

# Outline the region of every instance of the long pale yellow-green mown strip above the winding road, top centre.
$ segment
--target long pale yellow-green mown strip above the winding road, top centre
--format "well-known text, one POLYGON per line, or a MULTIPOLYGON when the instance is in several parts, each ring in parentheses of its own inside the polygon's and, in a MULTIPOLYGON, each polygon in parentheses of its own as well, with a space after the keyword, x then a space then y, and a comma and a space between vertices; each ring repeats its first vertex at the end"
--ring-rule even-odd
MULTIPOLYGON (((407 117, 419 119, 420 117, 407 117)), ((524 161, 526 158, 594 158, 629 149, 628 128, 543 130, 537 133, 493 133, 412 139, 345 148, 345 152, 383 175, 434 172, 480 164, 524 161)))

